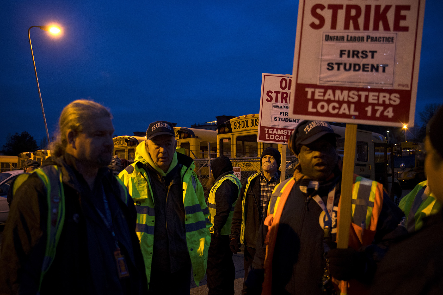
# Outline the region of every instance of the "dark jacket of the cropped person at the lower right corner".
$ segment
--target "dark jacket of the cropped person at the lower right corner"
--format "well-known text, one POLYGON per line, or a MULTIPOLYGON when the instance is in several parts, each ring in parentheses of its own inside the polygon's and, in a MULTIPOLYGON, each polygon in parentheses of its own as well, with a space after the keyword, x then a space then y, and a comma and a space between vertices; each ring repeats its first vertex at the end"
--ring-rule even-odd
POLYGON ((381 261, 371 294, 443 294, 443 211, 392 246, 381 261))

